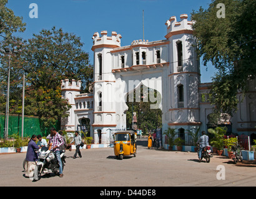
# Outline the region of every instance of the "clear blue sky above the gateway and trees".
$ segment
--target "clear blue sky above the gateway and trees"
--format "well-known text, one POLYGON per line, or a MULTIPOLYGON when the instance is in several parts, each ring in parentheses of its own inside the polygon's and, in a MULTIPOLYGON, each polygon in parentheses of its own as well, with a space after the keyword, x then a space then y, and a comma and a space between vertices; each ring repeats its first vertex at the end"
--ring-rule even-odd
MULTIPOLYGON (((122 35, 121 45, 130 45, 133 40, 143 37, 142 12, 144 10, 145 40, 149 42, 165 39, 165 22, 180 14, 207 8, 211 0, 9 0, 7 7, 16 16, 22 16, 26 22, 26 31, 19 35, 29 39, 42 29, 56 26, 65 32, 72 32, 81 37, 84 50, 89 53, 93 63, 92 35, 94 32, 107 30, 109 35, 116 31, 122 35), (29 17, 29 5, 38 6, 38 18, 29 17)), ((209 65, 206 72, 201 64, 201 82, 210 82, 214 67, 209 65)))

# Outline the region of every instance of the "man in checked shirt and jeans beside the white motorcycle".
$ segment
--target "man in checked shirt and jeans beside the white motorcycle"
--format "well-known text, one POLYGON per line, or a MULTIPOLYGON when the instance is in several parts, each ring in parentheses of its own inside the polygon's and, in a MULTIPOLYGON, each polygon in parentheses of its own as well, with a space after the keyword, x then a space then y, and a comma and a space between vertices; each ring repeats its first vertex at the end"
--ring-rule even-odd
POLYGON ((62 144, 64 144, 64 141, 63 141, 61 135, 53 127, 51 128, 51 137, 50 137, 49 141, 52 143, 52 151, 56 155, 58 163, 59 163, 59 177, 63 177, 61 152, 59 150, 59 147, 62 144))

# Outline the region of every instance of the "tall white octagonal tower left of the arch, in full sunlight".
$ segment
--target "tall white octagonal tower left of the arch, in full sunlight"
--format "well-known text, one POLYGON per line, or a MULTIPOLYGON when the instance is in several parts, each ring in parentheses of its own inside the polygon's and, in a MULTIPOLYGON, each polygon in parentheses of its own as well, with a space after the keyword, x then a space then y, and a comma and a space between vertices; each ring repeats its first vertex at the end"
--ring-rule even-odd
POLYGON ((105 144, 112 139, 113 128, 120 125, 117 123, 118 116, 114 91, 116 85, 115 76, 112 73, 111 50, 121 47, 121 35, 112 32, 111 37, 107 31, 94 33, 92 51, 94 51, 94 143, 105 144))

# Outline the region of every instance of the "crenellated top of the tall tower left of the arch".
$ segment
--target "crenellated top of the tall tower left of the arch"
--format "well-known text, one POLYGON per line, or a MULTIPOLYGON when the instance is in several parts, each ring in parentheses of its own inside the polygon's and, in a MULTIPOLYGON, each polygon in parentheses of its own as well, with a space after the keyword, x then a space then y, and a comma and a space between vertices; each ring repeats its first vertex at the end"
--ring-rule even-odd
POLYGON ((101 31, 101 36, 98 32, 95 32, 92 36, 93 46, 92 51, 102 47, 116 48, 121 47, 121 38, 120 34, 117 34, 115 31, 112 31, 111 36, 107 36, 107 30, 101 31))

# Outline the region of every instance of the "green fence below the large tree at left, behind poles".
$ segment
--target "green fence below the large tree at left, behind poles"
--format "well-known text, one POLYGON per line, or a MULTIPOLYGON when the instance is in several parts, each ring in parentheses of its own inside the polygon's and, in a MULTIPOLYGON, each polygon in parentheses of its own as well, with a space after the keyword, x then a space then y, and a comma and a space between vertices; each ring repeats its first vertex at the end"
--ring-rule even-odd
MULTIPOLYGON (((4 137, 5 121, 6 116, 0 113, 0 138, 4 137)), ((19 135, 21 136, 22 116, 17 114, 9 114, 8 126, 8 135, 19 132, 19 135)), ((54 127, 57 131, 59 131, 61 125, 59 122, 57 122, 54 127)), ((42 127, 41 120, 38 117, 24 116, 24 137, 31 137, 32 134, 41 134, 42 136, 47 136, 50 133, 49 129, 42 127)))

